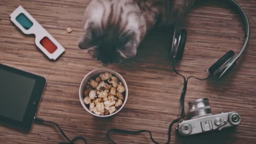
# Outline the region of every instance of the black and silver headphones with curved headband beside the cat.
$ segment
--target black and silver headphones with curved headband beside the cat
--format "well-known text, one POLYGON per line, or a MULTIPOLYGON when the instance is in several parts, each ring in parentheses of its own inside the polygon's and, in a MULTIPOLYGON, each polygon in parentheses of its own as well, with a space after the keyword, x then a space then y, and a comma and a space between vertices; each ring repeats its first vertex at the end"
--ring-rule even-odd
MULTIPOLYGON (((245 27, 245 42, 240 53, 235 57, 234 51, 228 51, 224 56, 222 56, 218 61, 216 61, 209 69, 210 75, 215 75, 221 79, 236 63, 241 54, 245 51, 245 48, 248 45, 250 37, 250 23, 247 17, 247 14, 243 8, 235 0, 224 0, 229 3, 232 8, 239 12, 240 16, 243 19, 243 24, 245 27)), ((187 40, 187 30, 186 29, 176 29, 173 27, 173 35, 171 39, 171 49, 170 56, 175 61, 180 61, 183 57, 184 48, 187 40)))

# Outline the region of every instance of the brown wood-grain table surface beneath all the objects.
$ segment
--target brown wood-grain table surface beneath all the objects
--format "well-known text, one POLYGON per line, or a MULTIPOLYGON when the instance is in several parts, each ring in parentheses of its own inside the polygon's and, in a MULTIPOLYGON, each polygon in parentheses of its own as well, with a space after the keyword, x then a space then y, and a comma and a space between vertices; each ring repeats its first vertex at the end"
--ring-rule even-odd
MULTIPOLYGON (((47 86, 37 116, 59 123, 69 138, 84 136, 88 144, 106 144, 110 128, 147 129, 159 143, 168 138, 168 125, 180 115, 179 99, 182 78, 171 68, 168 33, 164 29, 150 32, 131 64, 110 65, 128 83, 125 107, 115 116, 98 118, 83 109, 78 90, 83 77, 103 67, 77 44, 83 29, 83 12, 91 0, 0 0, 0 63, 35 72, 47 78, 47 86), (10 21, 9 15, 22 5, 50 32, 65 53, 50 61, 36 46, 33 35, 24 35, 10 21), (73 32, 68 34, 67 27, 73 32)), ((213 114, 237 111, 243 116, 236 128, 191 136, 177 136, 174 125, 172 144, 255 144, 256 143, 256 1, 237 0, 248 13, 251 39, 248 49, 223 80, 191 79, 188 101, 208 97, 213 114)), ((184 59, 178 64, 186 76, 206 77, 206 69, 229 50, 236 53, 243 44, 240 17, 228 5, 219 2, 196 3, 186 17, 188 29, 184 59)), ((186 117, 187 118, 187 117, 186 117)), ((147 133, 138 136, 112 133, 117 144, 151 144, 147 133)), ((55 144, 65 141, 56 127, 33 125, 29 133, 0 126, 0 144, 55 144)), ((81 141, 80 141, 81 142, 81 141)))

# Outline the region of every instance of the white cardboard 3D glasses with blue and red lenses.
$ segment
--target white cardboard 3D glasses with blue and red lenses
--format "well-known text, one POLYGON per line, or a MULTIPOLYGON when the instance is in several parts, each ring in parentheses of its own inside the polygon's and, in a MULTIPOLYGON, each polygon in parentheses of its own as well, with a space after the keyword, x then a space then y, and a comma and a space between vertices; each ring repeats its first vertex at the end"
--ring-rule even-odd
POLYGON ((24 34, 34 34, 35 44, 49 59, 56 60, 65 48, 61 46, 21 5, 11 13, 11 21, 24 34))

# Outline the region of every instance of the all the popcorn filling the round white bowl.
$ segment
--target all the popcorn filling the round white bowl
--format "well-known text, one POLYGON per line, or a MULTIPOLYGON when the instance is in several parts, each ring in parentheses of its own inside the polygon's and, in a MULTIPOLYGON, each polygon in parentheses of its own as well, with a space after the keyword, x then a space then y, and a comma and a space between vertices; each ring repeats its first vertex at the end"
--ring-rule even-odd
POLYGON ((111 115, 123 105, 125 87, 114 75, 104 72, 85 85, 84 103, 96 115, 111 115))

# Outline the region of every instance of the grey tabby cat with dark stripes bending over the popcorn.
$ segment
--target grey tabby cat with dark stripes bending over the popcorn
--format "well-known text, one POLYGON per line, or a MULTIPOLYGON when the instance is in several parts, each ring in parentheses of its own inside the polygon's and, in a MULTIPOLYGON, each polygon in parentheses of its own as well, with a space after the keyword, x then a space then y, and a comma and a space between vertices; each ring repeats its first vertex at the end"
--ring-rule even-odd
POLYGON ((195 0, 92 0, 79 47, 103 64, 131 59, 156 24, 173 24, 195 0))

